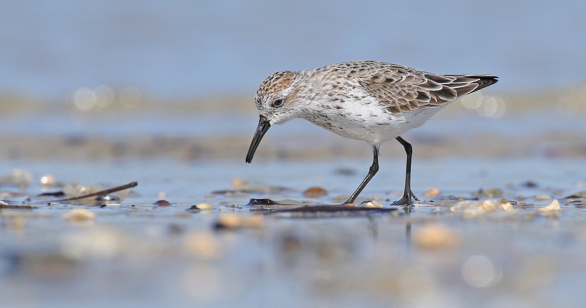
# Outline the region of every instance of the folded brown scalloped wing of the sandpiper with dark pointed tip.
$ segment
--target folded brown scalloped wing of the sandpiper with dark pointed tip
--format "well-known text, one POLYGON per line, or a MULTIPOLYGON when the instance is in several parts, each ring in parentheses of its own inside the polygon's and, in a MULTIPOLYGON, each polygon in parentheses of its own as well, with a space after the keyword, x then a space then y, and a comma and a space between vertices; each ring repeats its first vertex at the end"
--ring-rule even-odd
POLYGON ((358 78, 360 85, 392 113, 434 108, 492 85, 498 80, 487 75, 438 75, 400 65, 379 68, 358 78))

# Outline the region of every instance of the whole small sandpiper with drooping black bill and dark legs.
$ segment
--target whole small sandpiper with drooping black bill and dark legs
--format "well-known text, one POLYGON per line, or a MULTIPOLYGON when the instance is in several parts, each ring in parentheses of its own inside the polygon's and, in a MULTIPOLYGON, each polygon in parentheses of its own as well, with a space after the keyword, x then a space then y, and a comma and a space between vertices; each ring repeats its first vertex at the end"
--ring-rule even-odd
POLYGON ((260 121, 246 162, 273 124, 296 117, 342 137, 367 141, 373 163, 366 178, 346 203, 356 197, 379 170, 379 146, 396 139, 407 153, 403 198, 393 205, 411 205, 411 144, 400 137, 466 94, 497 82, 490 75, 440 75, 403 65, 353 61, 305 71, 272 74, 258 87, 255 102, 260 121))

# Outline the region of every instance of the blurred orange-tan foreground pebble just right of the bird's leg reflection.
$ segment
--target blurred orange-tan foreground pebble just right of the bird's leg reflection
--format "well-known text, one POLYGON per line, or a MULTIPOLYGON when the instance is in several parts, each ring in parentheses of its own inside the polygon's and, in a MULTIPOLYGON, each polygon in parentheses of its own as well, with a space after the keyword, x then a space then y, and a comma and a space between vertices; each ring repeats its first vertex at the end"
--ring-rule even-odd
POLYGON ((424 225, 415 232, 414 240, 418 247, 428 250, 455 247, 461 243, 455 231, 439 224, 424 225))

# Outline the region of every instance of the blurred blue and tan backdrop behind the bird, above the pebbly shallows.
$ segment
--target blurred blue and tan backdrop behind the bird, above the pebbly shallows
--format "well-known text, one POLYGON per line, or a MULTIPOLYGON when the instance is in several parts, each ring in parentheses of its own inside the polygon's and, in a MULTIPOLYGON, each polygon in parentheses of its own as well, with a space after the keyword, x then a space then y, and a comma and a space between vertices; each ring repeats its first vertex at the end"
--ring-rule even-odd
MULTIPOLYGON (((2 1, 0 158, 243 159, 264 78, 350 60, 498 75, 408 134, 486 133, 514 154, 513 133, 584 131, 584 16, 584 1, 2 1)), ((263 143, 259 157, 364 152, 304 121, 263 143)))

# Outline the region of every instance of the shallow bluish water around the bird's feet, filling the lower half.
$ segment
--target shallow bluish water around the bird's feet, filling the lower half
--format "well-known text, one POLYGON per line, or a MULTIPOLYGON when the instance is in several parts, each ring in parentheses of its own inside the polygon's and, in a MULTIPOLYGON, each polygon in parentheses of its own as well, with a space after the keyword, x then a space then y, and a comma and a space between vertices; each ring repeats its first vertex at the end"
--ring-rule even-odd
MULTIPOLYGON (((414 161, 413 191, 422 200, 410 213, 357 217, 263 216, 261 226, 215 230, 219 217, 250 217, 250 198, 308 199, 322 186, 332 202, 362 180, 369 161, 3 161, 2 173, 25 168, 35 179, 59 182, 138 181, 120 205, 39 203, 37 209, 1 210, 0 293, 5 304, 104 306, 580 306, 586 281, 584 204, 562 199, 585 190, 578 158, 526 160, 425 159, 414 161), (340 172, 340 169, 344 172, 340 172), (350 174, 350 175, 347 175, 350 174), (277 193, 211 194, 248 184, 283 186, 277 193), (528 187, 533 181, 536 187, 528 187), (431 186, 440 196, 423 198, 431 186), (527 203, 515 212, 466 218, 450 213, 451 197, 473 198, 500 188, 504 198, 527 203), (159 196, 164 192, 164 198, 159 196), (558 217, 534 216, 560 199, 558 217), (520 197, 522 196, 522 197, 520 197), (158 199, 171 206, 154 206, 158 199), (197 203, 213 210, 188 212, 197 203), (134 205, 134 206, 132 206, 134 205), (231 205, 236 205, 232 207, 231 205), (84 208, 95 219, 63 219, 84 208), (19 217, 19 218, 18 218, 19 217), (420 243, 425 227, 441 226, 453 245, 420 243)), ((385 206, 398 199, 403 160, 381 160, 363 199, 385 206), (389 201, 387 201, 389 200, 389 201)), ((58 189, 58 188, 54 188, 58 189)), ((21 189, 0 186, 0 190, 21 189)), ((43 190, 33 183, 26 195, 43 190)), ((50 189, 49 189, 50 190, 50 189)), ((13 200, 23 200, 15 196, 13 200)), ((485 199, 485 198, 481 198, 485 199)), ((101 204, 101 203, 98 203, 101 204)), ((390 206, 392 207, 392 206, 390 206)), ((441 230, 440 230, 441 231, 441 230)))

